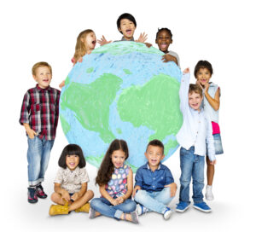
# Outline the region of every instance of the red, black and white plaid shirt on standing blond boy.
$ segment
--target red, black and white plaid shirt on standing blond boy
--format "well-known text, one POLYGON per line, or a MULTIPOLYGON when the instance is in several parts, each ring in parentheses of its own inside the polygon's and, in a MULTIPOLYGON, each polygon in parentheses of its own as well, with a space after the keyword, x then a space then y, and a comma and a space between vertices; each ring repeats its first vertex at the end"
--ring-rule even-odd
POLYGON ((30 125, 40 139, 44 136, 46 140, 55 139, 60 95, 60 90, 51 87, 41 89, 38 84, 27 90, 22 102, 20 124, 30 125))

